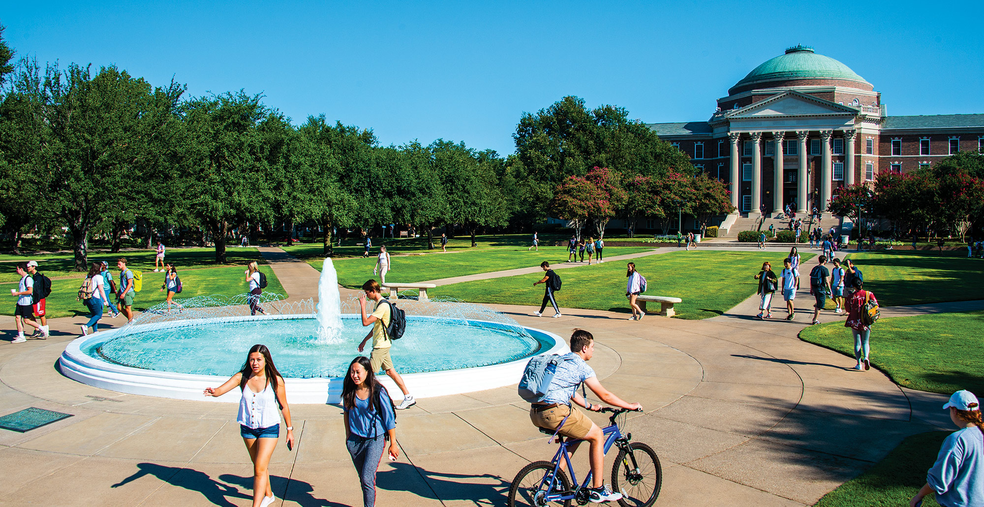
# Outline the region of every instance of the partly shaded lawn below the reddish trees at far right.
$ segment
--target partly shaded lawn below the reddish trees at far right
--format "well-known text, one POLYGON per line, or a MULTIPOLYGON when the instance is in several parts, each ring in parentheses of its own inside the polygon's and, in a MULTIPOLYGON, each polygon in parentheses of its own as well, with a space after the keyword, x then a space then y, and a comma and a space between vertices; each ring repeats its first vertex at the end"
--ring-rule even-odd
POLYGON ((984 299, 984 260, 913 253, 850 253, 880 304, 984 299))

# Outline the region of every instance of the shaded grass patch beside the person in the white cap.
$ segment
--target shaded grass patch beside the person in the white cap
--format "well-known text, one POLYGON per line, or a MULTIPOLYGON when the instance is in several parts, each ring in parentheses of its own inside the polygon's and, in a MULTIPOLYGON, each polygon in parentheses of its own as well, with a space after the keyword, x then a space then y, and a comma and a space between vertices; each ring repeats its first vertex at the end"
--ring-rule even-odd
MULTIPOLYGON (((912 435, 894 448, 884 460, 824 495, 816 507, 897 507, 909 504, 926 483, 926 472, 936 461, 940 444, 950 431, 912 435)), ((930 494, 923 507, 939 505, 930 494)))

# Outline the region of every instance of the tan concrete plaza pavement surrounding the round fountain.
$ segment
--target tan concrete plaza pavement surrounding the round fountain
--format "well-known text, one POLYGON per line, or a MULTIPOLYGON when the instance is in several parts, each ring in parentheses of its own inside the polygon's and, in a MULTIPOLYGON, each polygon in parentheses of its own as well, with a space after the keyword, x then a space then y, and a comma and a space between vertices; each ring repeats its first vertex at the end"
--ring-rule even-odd
MULTIPOLYGON (((264 255, 291 298, 314 295, 317 270, 274 250, 264 255)), ((412 305, 404 303, 411 314, 412 305)), ((594 334, 598 378, 646 408, 628 429, 662 461, 656 505, 810 505, 905 436, 950 424, 939 410, 946 396, 899 389, 878 371, 855 371, 852 359, 799 341, 805 310, 792 323, 750 318, 755 297, 704 321, 635 322, 578 309, 544 319, 530 316, 531 306, 494 307, 564 337, 573 328, 594 334)), ((0 506, 250 505, 235 406, 122 395, 63 377, 55 361, 84 321, 52 319, 51 339, 0 345, 0 414, 26 407, 74 414, 27 433, 0 429, 0 506)), ((403 455, 381 465, 377 505, 503 505, 523 465, 554 449, 526 410, 507 387, 420 400, 400 412, 403 455)), ((293 451, 277 446, 274 505, 361 505, 338 409, 291 412, 298 443, 293 451)), ((585 470, 584 453, 576 467, 585 470)))

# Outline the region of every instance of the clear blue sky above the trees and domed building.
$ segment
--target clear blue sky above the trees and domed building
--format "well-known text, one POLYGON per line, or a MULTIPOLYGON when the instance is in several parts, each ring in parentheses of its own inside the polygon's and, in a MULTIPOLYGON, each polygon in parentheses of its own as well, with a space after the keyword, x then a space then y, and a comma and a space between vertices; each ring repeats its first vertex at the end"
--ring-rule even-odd
POLYGON ((797 43, 872 83, 890 114, 984 113, 982 14, 980 2, 51 1, 8 3, 0 23, 42 63, 115 64, 189 95, 243 89, 295 124, 324 113, 384 145, 443 138, 505 156, 523 111, 564 95, 646 122, 706 120, 797 43))

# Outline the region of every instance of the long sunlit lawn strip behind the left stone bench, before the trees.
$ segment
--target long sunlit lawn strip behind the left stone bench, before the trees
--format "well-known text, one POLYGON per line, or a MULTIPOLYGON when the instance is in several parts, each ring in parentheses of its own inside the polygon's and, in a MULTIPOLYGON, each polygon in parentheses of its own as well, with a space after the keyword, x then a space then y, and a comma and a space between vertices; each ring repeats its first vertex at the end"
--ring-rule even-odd
MULTIPOLYGON (((378 249, 374 250, 374 255, 367 258, 333 259, 335 269, 338 271, 338 283, 354 288, 361 286, 366 280, 374 278, 372 270, 376 266, 375 254, 379 253, 378 249)), ((620 246, 605 248, 604 253, 606 257, 613 257, 650 250, 652 248, 620 246)), ((458 250, 454 253, 451 250, 448 253, 438 251, 427 255, 395 255, 399 254, 400 250, 393 248, 390 253, 394 255, 394 270, 387 273, 387 280, 391 282, 423 282, 492 271, 536 267, 543 261, 548 261, 551 264, 566 262, 568 256, 567 248, 561 246, 545 246, 541 247, 539 251, 527 251, 525 248, 514 247, 476 248, 458 250)), ((324 259, 310 260, 308 263, 320 271, 324 259)), ((375 278, 379 280, 379 277, 375 278)))

